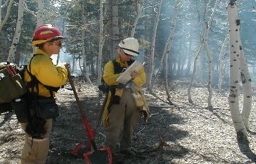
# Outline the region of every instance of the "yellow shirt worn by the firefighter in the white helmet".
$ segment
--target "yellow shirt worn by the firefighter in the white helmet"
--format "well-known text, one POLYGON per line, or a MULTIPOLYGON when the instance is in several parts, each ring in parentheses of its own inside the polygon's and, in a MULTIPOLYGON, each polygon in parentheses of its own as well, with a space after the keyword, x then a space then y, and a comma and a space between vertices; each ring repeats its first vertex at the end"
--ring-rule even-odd
MULTIPOLYGON (((127 68, 128 67, 128 63, 122 63, 120 61, 120 55, 118 55, 118 57, 116 57, 116 62, 118 62, 120 64, 121 67, 127 68)), ((104 72, 103 72, 103 79, 105 81, 105 83, 107 83, 108 85, 118 85, 119 83, 116 82, 116 79, 120 76, 121 73, 119 74, 114 74, 114 64, 112 61, 109 61, 105 66, 104 66, 104 72)), ((141 68, 138 71, 138 77, 136 77, 134 80, 132 80, 133 83, 135 84, 135 89, 137 91, 141 91, 140 87, 146 83, 146 74, 144 71, 144 68, 141 68)), ((121 88, 116 88, 115 89, 115 95, 118 95, 120 97, 122 97, 123 94, 123 89, 121 88)), ((104 113, 103 113, 103 125, 106 128, 108 126, 108 109, 109 109, 109 103, 111 100, 111 91, 108 92, 108 99, 107 99, 107 103, 104 107, 104 113)))

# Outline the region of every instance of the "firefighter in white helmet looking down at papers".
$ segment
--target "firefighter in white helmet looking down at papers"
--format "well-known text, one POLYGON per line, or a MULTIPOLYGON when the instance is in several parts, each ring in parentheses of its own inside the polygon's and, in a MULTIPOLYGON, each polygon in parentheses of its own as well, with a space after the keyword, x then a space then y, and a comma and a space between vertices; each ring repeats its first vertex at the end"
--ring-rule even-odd
MULTIPOLYGON (((134 62, 134 56, 139 55, 139 44, 135 38, 126 38, 119 43, 119 55, 104 66, 103 79, 109 87, 119 83, 116 79, 122 70, 134 62)), ((136 106, 133 90, 140 91, 146 83, 144 68, 131 74, 131 81, 124 88, 112 88, 108 92, 108 100, 103 113, 103 125, 107 128, 105 146, 116 151, 120 137, 120 152, 135 155, 136 150, 131 146, 131 138, 136 123, 140 120, 140 107, 136 106), (120 136, 122 134, 122 136, 120 136)))

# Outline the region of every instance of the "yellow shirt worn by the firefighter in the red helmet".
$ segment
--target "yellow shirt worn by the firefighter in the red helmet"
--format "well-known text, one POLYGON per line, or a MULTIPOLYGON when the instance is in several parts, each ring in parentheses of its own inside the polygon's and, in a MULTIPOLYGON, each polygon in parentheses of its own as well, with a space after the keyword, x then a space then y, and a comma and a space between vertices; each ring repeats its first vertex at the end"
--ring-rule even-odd
MULTIPOLYGON (((68 72, 64 65, 54 66, 52 59, 41 49, 36 49, 35 54, 31 61, 31 65, 28 66, 27 69, 31 71, 31 74, 36 77, 42 84, 48 85, 50 87, 61 87, 67 82, 68 72), (30 69, 31 67, 31 69, 30 69)), ((31 77, 28 74, 27 70, 24 72, 24 80, 25 82, 31 81, 31 77)), ((39 96, 50 96, 49 90, 47 90, 43 85, 39 83, 39 96)), ((31 91, 31 88, 30 88, 31 91)), ((34 88, 36 92, 36 88, 34 88)))

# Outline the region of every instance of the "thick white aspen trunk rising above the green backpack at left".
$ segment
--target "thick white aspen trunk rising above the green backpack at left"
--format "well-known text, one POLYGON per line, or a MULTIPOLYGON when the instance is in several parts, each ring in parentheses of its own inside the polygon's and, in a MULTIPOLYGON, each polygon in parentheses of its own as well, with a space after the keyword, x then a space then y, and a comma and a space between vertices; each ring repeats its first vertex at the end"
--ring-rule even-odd
MULTIPOLYGON (((24 0, 19 0, 17 24, 16 24, 15 33, 12 40, 12 45, 10 46, 10 50, 9 50, 9 55, 7 59, 8 62, 14 62, 15 53, 17 51, 17 46, 20 40, 21 27, 23 23, 23 9, 24 9, 23 5, 24 5, 24 0)), ((16 63, 19 64, 19 61, 16 61, 16 63)))

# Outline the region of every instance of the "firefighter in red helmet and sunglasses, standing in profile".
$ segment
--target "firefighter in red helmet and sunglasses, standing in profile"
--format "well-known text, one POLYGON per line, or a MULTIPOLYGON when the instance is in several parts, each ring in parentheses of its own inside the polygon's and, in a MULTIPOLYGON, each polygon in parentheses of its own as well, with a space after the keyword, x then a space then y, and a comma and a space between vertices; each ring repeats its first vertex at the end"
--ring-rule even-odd
POLYGON ((21 153, 21 163, 45 163, 49 151, 49 137, 53 118, 38 117, 37 111, 31 112, 30 103, 38 99, 55 99, 57 90, 66 83, 68 64, 53 65, 50 58, 60 53, 64 36, 51 24, 41 25, 35 29, 32 45, 37 47, 24 72, 28 88, 28 108, 30 121, 21 123, 25 131, 25 141, 21 153), (35 83, 34 80, 38 80, 35 83), (34 85, 31 81, 34 82, 34 85), (31 96, 33 95, 33 97, 31 96), (33 101, 31 101, 31 99, 33 101))

